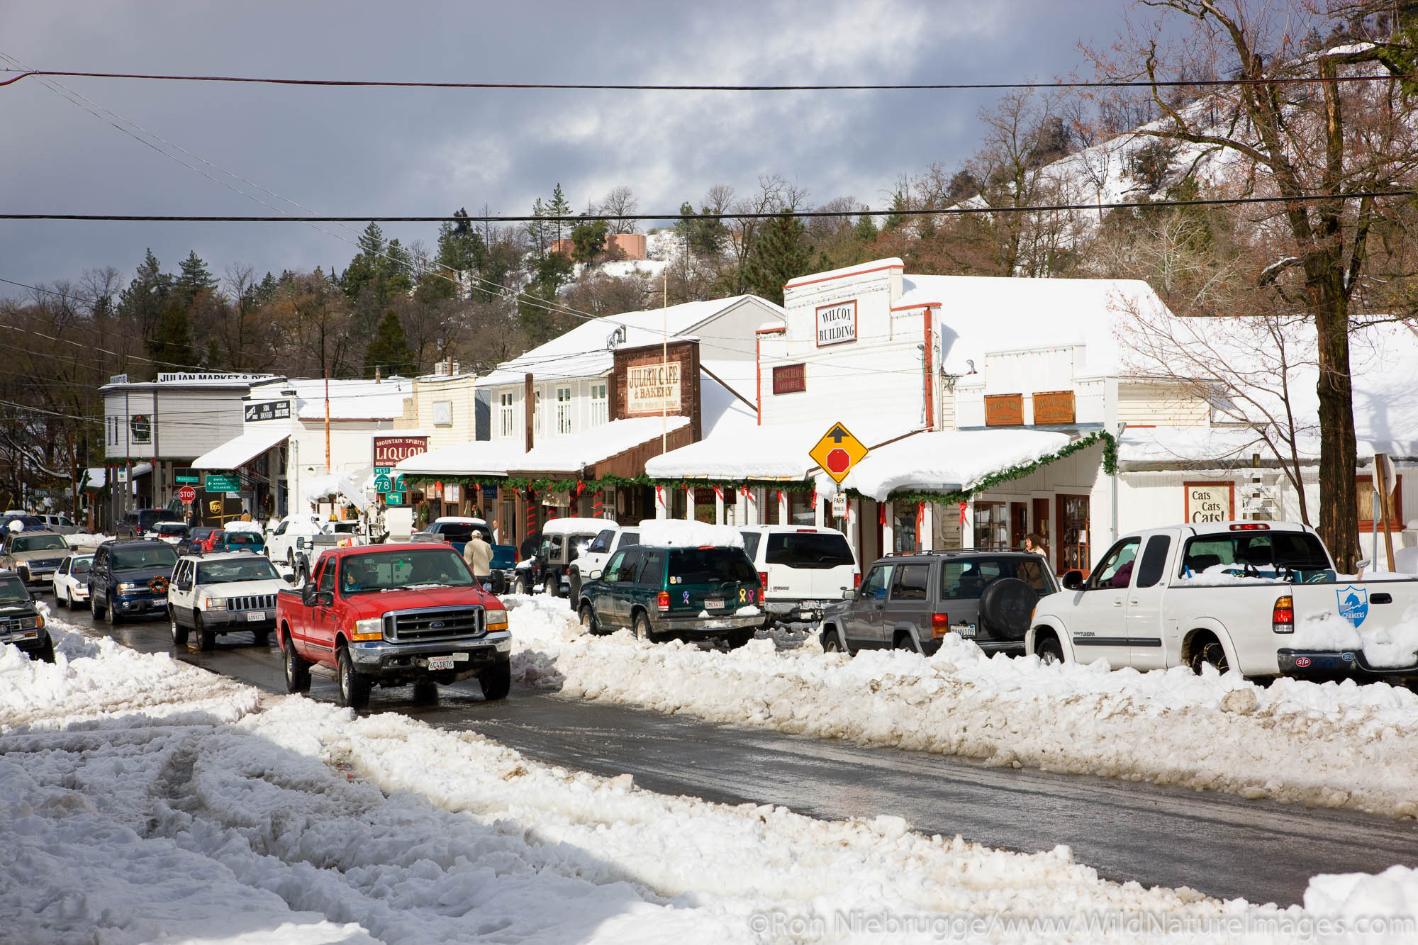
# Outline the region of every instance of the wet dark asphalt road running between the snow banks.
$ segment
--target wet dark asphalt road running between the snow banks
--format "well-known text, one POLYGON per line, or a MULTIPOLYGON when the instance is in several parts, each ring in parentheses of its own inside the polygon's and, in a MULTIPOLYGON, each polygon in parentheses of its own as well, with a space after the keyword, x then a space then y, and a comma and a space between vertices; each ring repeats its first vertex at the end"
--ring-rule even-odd
MULTIPOLYGON (((52 603, 52 597, 47 597, 52 603)), ((167 624, 94 630, 88 613, 57 616, 112 633, 146 653, 173 651, 167 624)), ((179 658, 271 692, 285 691, 279 650, 245 633, 213 653, 179 658)), ((335 701, 333 675, 315 670, 311 697, 335 701)), ((961 834, 1007 850, 1068 844, 1106 878, 1188 885, 1222 898, 1299 902, 1317 873, 1380 873, 1418 864, 1418 824, 1344 810, 1306 810, 1232 795, 1075 775, 984 768, 966 761, 718 725, 691 717, 563 698, 513 685, 484 702, 478 684, 441 690, 437 707, 411 691, 374 690, 373 711, 495 738, 535 759, 598 775, 630 772, 671 795, 783 805, 814 817, 896 814, 916 830, 961 834)))

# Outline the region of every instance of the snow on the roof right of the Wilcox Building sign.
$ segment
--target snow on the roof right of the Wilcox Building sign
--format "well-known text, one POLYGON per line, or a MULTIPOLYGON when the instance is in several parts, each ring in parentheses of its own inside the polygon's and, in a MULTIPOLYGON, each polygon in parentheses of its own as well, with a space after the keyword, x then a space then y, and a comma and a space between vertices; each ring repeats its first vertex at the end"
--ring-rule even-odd
POLYGON ((991 275, 906 275, 893 308, 939 305, 946 373, 984 370, 990 353, 1086 345, 1076 376, 1119 370, 1116 331, 1132 311, 1166 311, 1141 280, 1031 280, 991 275))

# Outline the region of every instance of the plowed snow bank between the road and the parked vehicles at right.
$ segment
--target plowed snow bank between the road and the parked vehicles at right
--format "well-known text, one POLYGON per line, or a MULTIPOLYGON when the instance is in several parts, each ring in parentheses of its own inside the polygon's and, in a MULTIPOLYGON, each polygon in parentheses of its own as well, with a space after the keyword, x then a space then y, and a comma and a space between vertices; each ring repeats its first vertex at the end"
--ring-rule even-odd
POLYGON ((753 640, 720 653, 586 636, 562 600, 506 597, 513 674, 662 712, 963 755, 997 765, 1418 816, 1418 695, 1385 684, 1187 668, 1110 671, 986 657, 947 636, 927 658, 828 656, 753 640))

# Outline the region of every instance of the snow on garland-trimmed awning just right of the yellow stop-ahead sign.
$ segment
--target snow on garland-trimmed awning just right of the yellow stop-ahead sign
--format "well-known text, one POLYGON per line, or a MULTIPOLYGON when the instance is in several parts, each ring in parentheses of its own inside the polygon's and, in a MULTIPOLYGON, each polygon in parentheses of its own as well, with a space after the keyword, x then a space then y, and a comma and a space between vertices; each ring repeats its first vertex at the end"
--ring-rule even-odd
POLYGON ((847 474, 842 488, 879 502, 896 490, 968 490, 994 472, 1042 460, 1068 444, 1068 434, 1044 430, 917 433, 872 450, 847 474))

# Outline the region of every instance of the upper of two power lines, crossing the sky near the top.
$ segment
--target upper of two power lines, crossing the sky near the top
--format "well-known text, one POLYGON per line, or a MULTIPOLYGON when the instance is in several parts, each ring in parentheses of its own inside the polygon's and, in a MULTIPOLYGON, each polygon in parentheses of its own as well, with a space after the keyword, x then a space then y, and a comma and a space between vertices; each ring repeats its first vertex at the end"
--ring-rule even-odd
MULTIPOLYGON (((0 70, 13 72, 16 70, 0 70)), ((323 85, 335 88, 468 88, 486 91, 545 89, 566 92, 933 92, 933 91, 1000 91, 1012 88, 1212 88, 1231 85, 1297 85, 1334 82, 1383 82, 1412 78, 1409 75, 1278 75, 1273 78, 1234 79, 1096 79, 1073 82, 899 82, 871 85, 693 85, 693 84, 611 84, 611 82, 431 82, 397 79, 298 79, 258 75, 162 75, 153 72, 78 72, 68 70, 26 70, 0 81, 13 85, 30 77, 155 79, 164 82, 235 82, 247 85, 323 85)))

